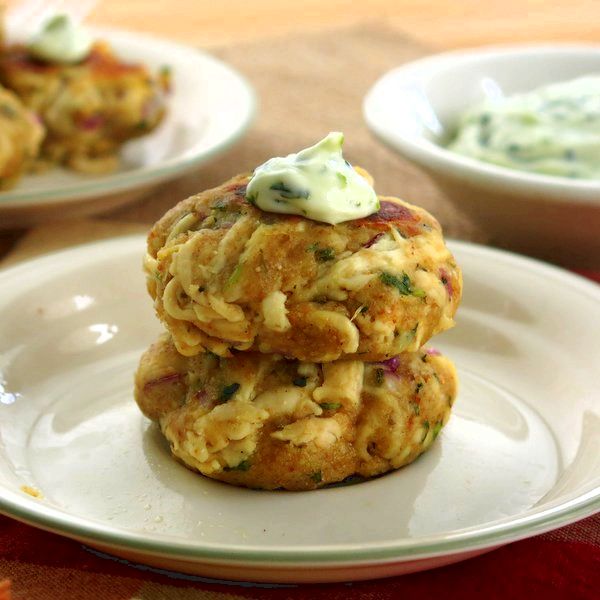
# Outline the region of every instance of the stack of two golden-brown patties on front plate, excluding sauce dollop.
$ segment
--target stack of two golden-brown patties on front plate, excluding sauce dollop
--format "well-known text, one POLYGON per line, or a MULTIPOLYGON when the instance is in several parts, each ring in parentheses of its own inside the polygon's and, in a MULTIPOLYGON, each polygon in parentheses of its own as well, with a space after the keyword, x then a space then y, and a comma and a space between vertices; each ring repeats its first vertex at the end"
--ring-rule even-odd
POLYGON ((265 212, 248 180, 180 202, 149 234, 168 333, 141 358, 140 409, 186 466, 236 485, 309 490, 410 463, 457 389, 424 347, 462 290, 438 222, 384 197, 337 225, 265 212))

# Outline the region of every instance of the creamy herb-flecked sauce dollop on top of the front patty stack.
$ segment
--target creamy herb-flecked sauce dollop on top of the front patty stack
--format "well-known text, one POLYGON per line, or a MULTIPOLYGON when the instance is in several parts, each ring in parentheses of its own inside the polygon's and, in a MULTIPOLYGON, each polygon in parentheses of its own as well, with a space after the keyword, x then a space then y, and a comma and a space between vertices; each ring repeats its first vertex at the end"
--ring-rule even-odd
POLYGON ((379 210, 369 182, 342 156, 344 135, 332 132, 310 148, 257 167, 246 198, 262 210, 335 225, 379 210))

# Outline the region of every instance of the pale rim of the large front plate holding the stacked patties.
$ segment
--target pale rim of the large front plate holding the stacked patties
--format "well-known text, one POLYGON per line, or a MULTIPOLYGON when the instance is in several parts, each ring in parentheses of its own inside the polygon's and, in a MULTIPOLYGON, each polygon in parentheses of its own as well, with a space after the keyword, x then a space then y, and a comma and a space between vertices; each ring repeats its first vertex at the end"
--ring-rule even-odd
MULTIPOLYGON (((600 286, 592 281, 542 261, 518 255, 516 253, 486 247, 471 242, 448 240, 451 250, 464 254, 479 255, 512 263, 522 269, 545 274, 576 286, 579 291, 596 301, 600 306, 600 286)), ((145 245, 143 235, 120 236, 109 240, 92 241, 64 250, 45 254, 31 260, 0 270, 6 282, 10 278, 23 276, 31 268, 40 268, 51 261, 63 261, 73 255, 87 252, 90 256, 100 253, 106 256, 110 251, 127 252, 130 247, 139 246, 140 255, 145 245)), ((74 261, 76 262, 79 261, 74 261)), ((71 264, 74 264, 71 263, 71 264)), ((423 536, 416 541, 410 538, 381 543, 335 544, 329 546, 291 547, 252 547, 235 544, 209 544, 202 540, 177 540, 165 536, 149 538, 143 532, 123 531, 109 527, 102 522, 87 517, 69 515, 59 508, 40 504, 34 498, 23 496, 8 486, 0 485, 0 513, 38 528, 60 535, 94 542, 113 548, 124 548, 170 558, 184 559, 191 563, 208 562, 235 565, 283 565, 294 564, 303 567, 328 568, 348 564, 398 563, 417 559, 465 553, 471 550, 496 547, 519 539, 555 529, 600 511, 600 484, 591 481, 590 489, 566 500, 551 502, 541 511, 531 513, 532 509, 487 525, 477 525, 457 533, 439 538, 439 535, 423 536), (435 538, 435 539, 432 539, 435 538)))

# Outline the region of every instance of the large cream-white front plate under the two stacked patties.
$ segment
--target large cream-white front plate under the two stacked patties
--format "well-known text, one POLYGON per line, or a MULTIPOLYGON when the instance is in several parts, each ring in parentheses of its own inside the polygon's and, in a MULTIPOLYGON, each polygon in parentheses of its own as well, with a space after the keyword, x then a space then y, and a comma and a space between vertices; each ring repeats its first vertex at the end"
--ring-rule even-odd
POLYGON ((405 469, 305 493, 196 475, 138 412, 133 371, 160 330, 141 236, 2 272, 0 510, 132 560, 259 581, 420 570, 593 513, 600 288, 451 246, 465 297, 457 327, 435 341, 461 378, 450 423, 405 469))

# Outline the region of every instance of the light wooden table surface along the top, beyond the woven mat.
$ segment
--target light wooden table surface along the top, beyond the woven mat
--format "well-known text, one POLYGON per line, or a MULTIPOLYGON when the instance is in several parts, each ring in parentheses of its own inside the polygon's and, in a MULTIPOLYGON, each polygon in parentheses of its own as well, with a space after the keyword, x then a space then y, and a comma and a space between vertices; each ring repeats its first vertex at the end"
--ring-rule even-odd
POLYGON ((600 40, 599 0, 103 0, 91 20, 198 46, 367 20, 434 48, 600 40))

